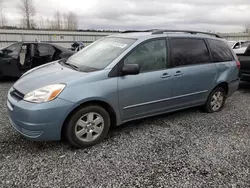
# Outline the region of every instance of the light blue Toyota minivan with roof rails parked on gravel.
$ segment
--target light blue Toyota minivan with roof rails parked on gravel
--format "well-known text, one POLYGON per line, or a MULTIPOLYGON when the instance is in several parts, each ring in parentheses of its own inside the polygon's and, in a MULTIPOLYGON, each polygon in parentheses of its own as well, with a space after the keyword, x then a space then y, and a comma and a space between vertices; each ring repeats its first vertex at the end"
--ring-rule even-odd
POLYGON ((220 111, 238 89, 239 68, 217 34, 124 32, 25 73, 8 92, 8 116, 29 139, 65 137, 84 148, 131 120, 194 106, 220 111))

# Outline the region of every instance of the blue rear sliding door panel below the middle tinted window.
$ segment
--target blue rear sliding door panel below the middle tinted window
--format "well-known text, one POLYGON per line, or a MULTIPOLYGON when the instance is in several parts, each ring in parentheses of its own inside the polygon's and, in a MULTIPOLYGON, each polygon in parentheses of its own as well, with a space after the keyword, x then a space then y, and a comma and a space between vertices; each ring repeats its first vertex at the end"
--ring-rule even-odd
POLYGON ((209 93, 216 86, 217 68, 215 64, 176 67, 173 70, 173 107, 204 104, 209 93))

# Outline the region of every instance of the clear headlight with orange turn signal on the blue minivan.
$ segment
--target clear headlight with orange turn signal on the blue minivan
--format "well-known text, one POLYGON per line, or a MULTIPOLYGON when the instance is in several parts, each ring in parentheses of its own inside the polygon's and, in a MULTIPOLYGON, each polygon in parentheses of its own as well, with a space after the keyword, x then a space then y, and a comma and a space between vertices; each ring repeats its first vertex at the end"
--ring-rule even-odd
POLYGON ((53 84, 34 90, 24 96, 24 100, 42 103, 54 100, 65 88, 65 84, 53 84))

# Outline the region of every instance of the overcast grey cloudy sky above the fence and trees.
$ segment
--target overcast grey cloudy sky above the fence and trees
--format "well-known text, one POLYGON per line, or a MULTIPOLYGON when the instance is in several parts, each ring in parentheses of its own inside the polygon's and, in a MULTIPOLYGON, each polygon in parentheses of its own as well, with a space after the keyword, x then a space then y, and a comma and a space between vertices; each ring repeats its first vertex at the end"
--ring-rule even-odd
MULTIPOLYGON (((195 29, 240 32, 250 24, 250 0, 33 0, 36 18, 74 11, 80 29, 195 29)), ((18 25, 18 0, 5 0, 9 25, 18 25)))

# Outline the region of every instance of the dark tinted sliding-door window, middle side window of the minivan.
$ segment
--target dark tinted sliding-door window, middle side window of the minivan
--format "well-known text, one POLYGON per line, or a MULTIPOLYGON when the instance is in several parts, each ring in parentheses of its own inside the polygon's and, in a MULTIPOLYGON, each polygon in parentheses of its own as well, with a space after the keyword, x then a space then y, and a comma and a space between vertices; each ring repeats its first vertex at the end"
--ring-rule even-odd
POLYGON ((203 39, 171 39, 174 66, 202 64, 211 62, 203 39))

